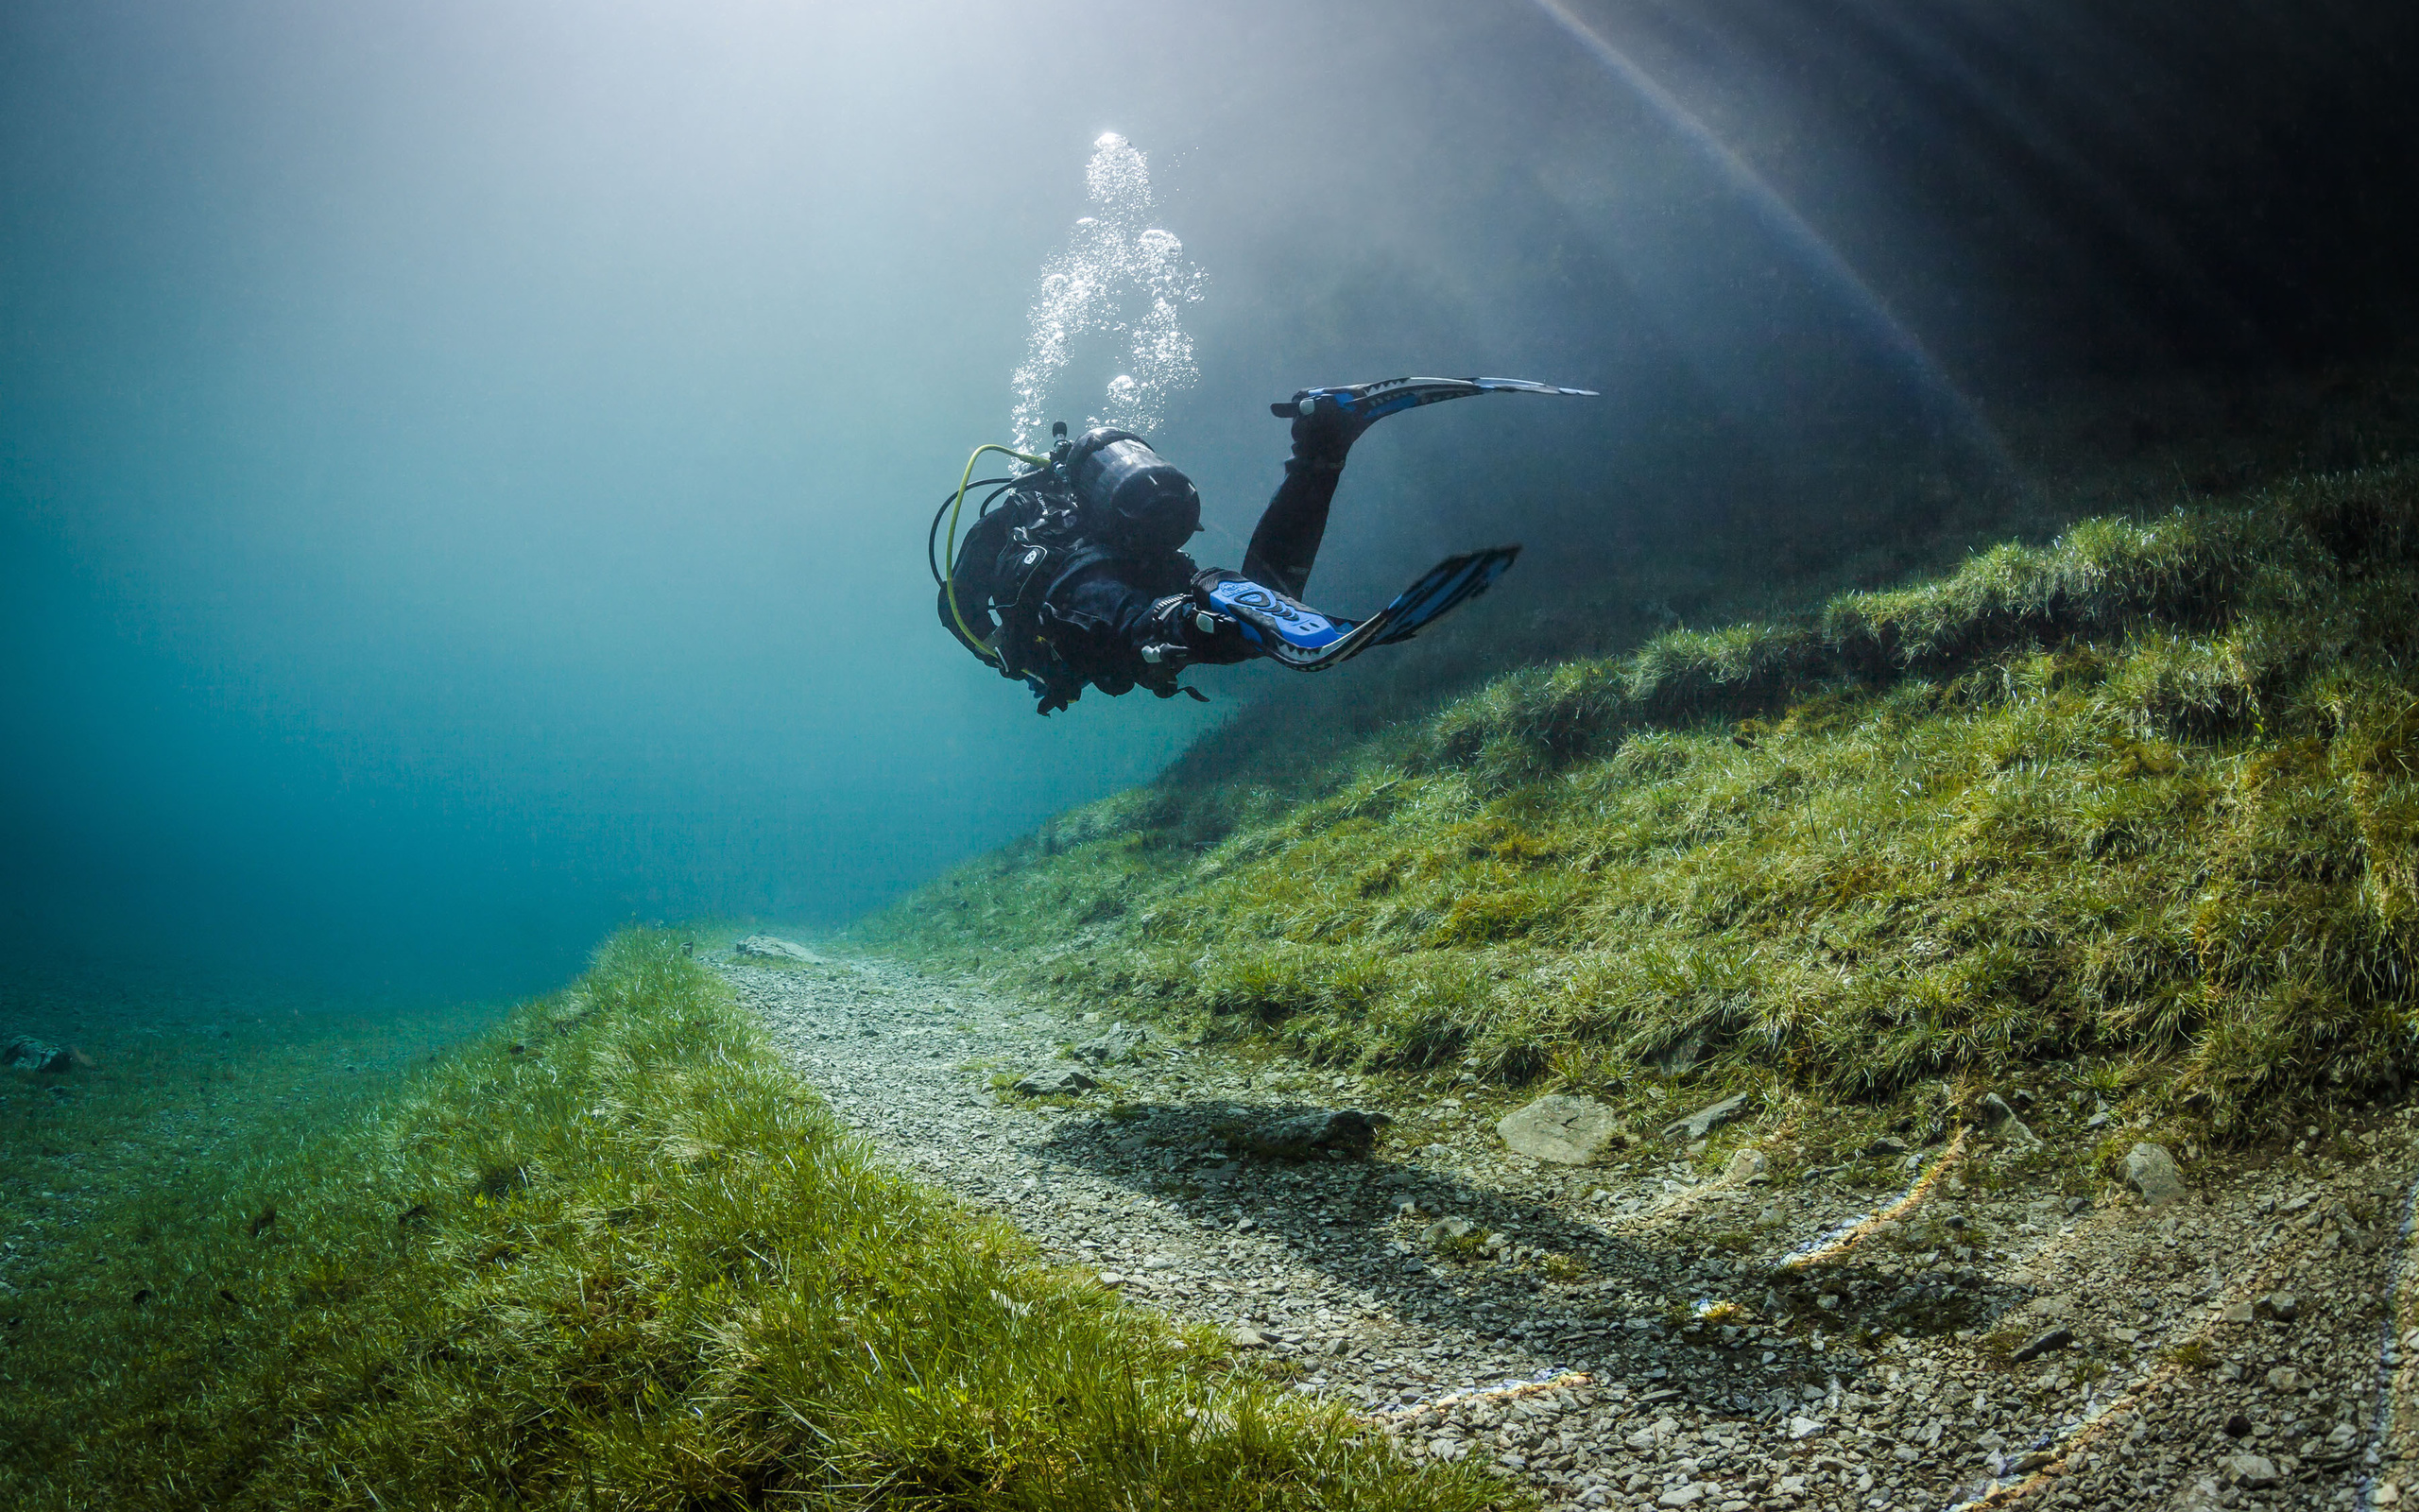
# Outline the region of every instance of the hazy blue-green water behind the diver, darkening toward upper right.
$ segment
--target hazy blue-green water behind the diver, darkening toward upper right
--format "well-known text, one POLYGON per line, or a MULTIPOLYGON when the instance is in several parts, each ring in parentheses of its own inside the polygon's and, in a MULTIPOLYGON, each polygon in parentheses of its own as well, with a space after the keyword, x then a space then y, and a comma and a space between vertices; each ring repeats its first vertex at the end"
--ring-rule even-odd
POLYGON ((1524 539, 1526 612, 2400 448, 2414 75, 2407 5, 0 7, 0 1033, 837 924, 1284 697, 1038 721, 934 627, 1101 133, 1195 552, 1297 387, 1601 389, 1386 421, 1314 588, 1524 539))

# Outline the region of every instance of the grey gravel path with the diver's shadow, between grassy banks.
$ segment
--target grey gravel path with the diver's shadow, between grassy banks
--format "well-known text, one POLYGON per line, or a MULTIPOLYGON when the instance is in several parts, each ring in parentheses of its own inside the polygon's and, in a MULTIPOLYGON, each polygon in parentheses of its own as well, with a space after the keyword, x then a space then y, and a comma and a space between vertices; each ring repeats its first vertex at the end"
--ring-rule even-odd
POLYGON ((1151 1040, 1026 1098, 994 1077, 1072 1069, 1113 1026, 895 963, 721 970, 902 1168, 1546 1507, 2419 1495, 2407 1115, 2223 1171, 2180 1152, 2165 1207, 2054 1185, 2112 1130, 2025 1098, 2046 1144, 1967 1130, 1766 1173, 1756 1142, 1788 1130, 1749 1115, 1722 1168, 1674 1137, 1572 1171, 1509 1154, 1476 1086, 1151 1040), (1391 1118, 1372 1156, 1251 1154, 1333 1108, 1391 1118))

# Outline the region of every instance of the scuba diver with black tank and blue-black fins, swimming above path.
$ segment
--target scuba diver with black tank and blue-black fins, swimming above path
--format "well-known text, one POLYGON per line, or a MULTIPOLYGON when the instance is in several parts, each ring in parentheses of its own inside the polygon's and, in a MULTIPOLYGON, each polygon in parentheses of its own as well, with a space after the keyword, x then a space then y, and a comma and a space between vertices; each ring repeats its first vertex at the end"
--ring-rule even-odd
POLYGON ((1389 377, 1299 389, 1270 404, 1277 419, 1294 421, 1294 452, 1239 573, 1205 571, 1183 552, 1200 530, 1200 494, 1132 431, 1096 428, 1069 440, 1060 421, 1047 455, 975 448, 924 539, 941 624, 1001 677, 1026 682, 1038 714, 1064 709, 1086 685, 1110 697, 1147 687, 1161 699, 1202 699, 1180 682, 1185 668, 1270 658, 1316 673, 1369 646, 1408 641, 1485 593, 1519 547, 1449 556, 1369 619, 1338 619, 1299 600, 1328 506, 1345 455, 1381 416, 1490 392, 1594 397, 1522 377, 1389 377), (985 452, 1026 469, 975 484, 985 452), (960 544, 958 520, 975 486, 992 494, 960 544), (948 544, 936 556, 943 515, 948 544))

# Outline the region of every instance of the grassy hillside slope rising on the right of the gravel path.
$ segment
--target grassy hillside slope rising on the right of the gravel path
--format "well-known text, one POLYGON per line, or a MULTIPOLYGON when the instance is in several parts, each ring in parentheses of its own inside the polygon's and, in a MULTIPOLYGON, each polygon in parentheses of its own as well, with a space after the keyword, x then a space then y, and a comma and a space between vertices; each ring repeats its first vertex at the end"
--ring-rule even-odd
POLYGON ((1309 760, 1229 738, 859 934, 1321 1060, 1867 1101, 2061 1060, 2242 1130, 2412 1055, 2414 602, 2412 464, 2083 520, 1309 760))

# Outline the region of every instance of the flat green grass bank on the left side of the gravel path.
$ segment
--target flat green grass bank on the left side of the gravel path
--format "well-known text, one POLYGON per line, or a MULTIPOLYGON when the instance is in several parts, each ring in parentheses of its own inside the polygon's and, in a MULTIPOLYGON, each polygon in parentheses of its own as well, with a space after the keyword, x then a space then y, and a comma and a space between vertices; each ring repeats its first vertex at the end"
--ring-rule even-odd
POLYGON ((53 1268, 12 1507, 1466 1507, 878 1168, 668 934, 53 1268))

